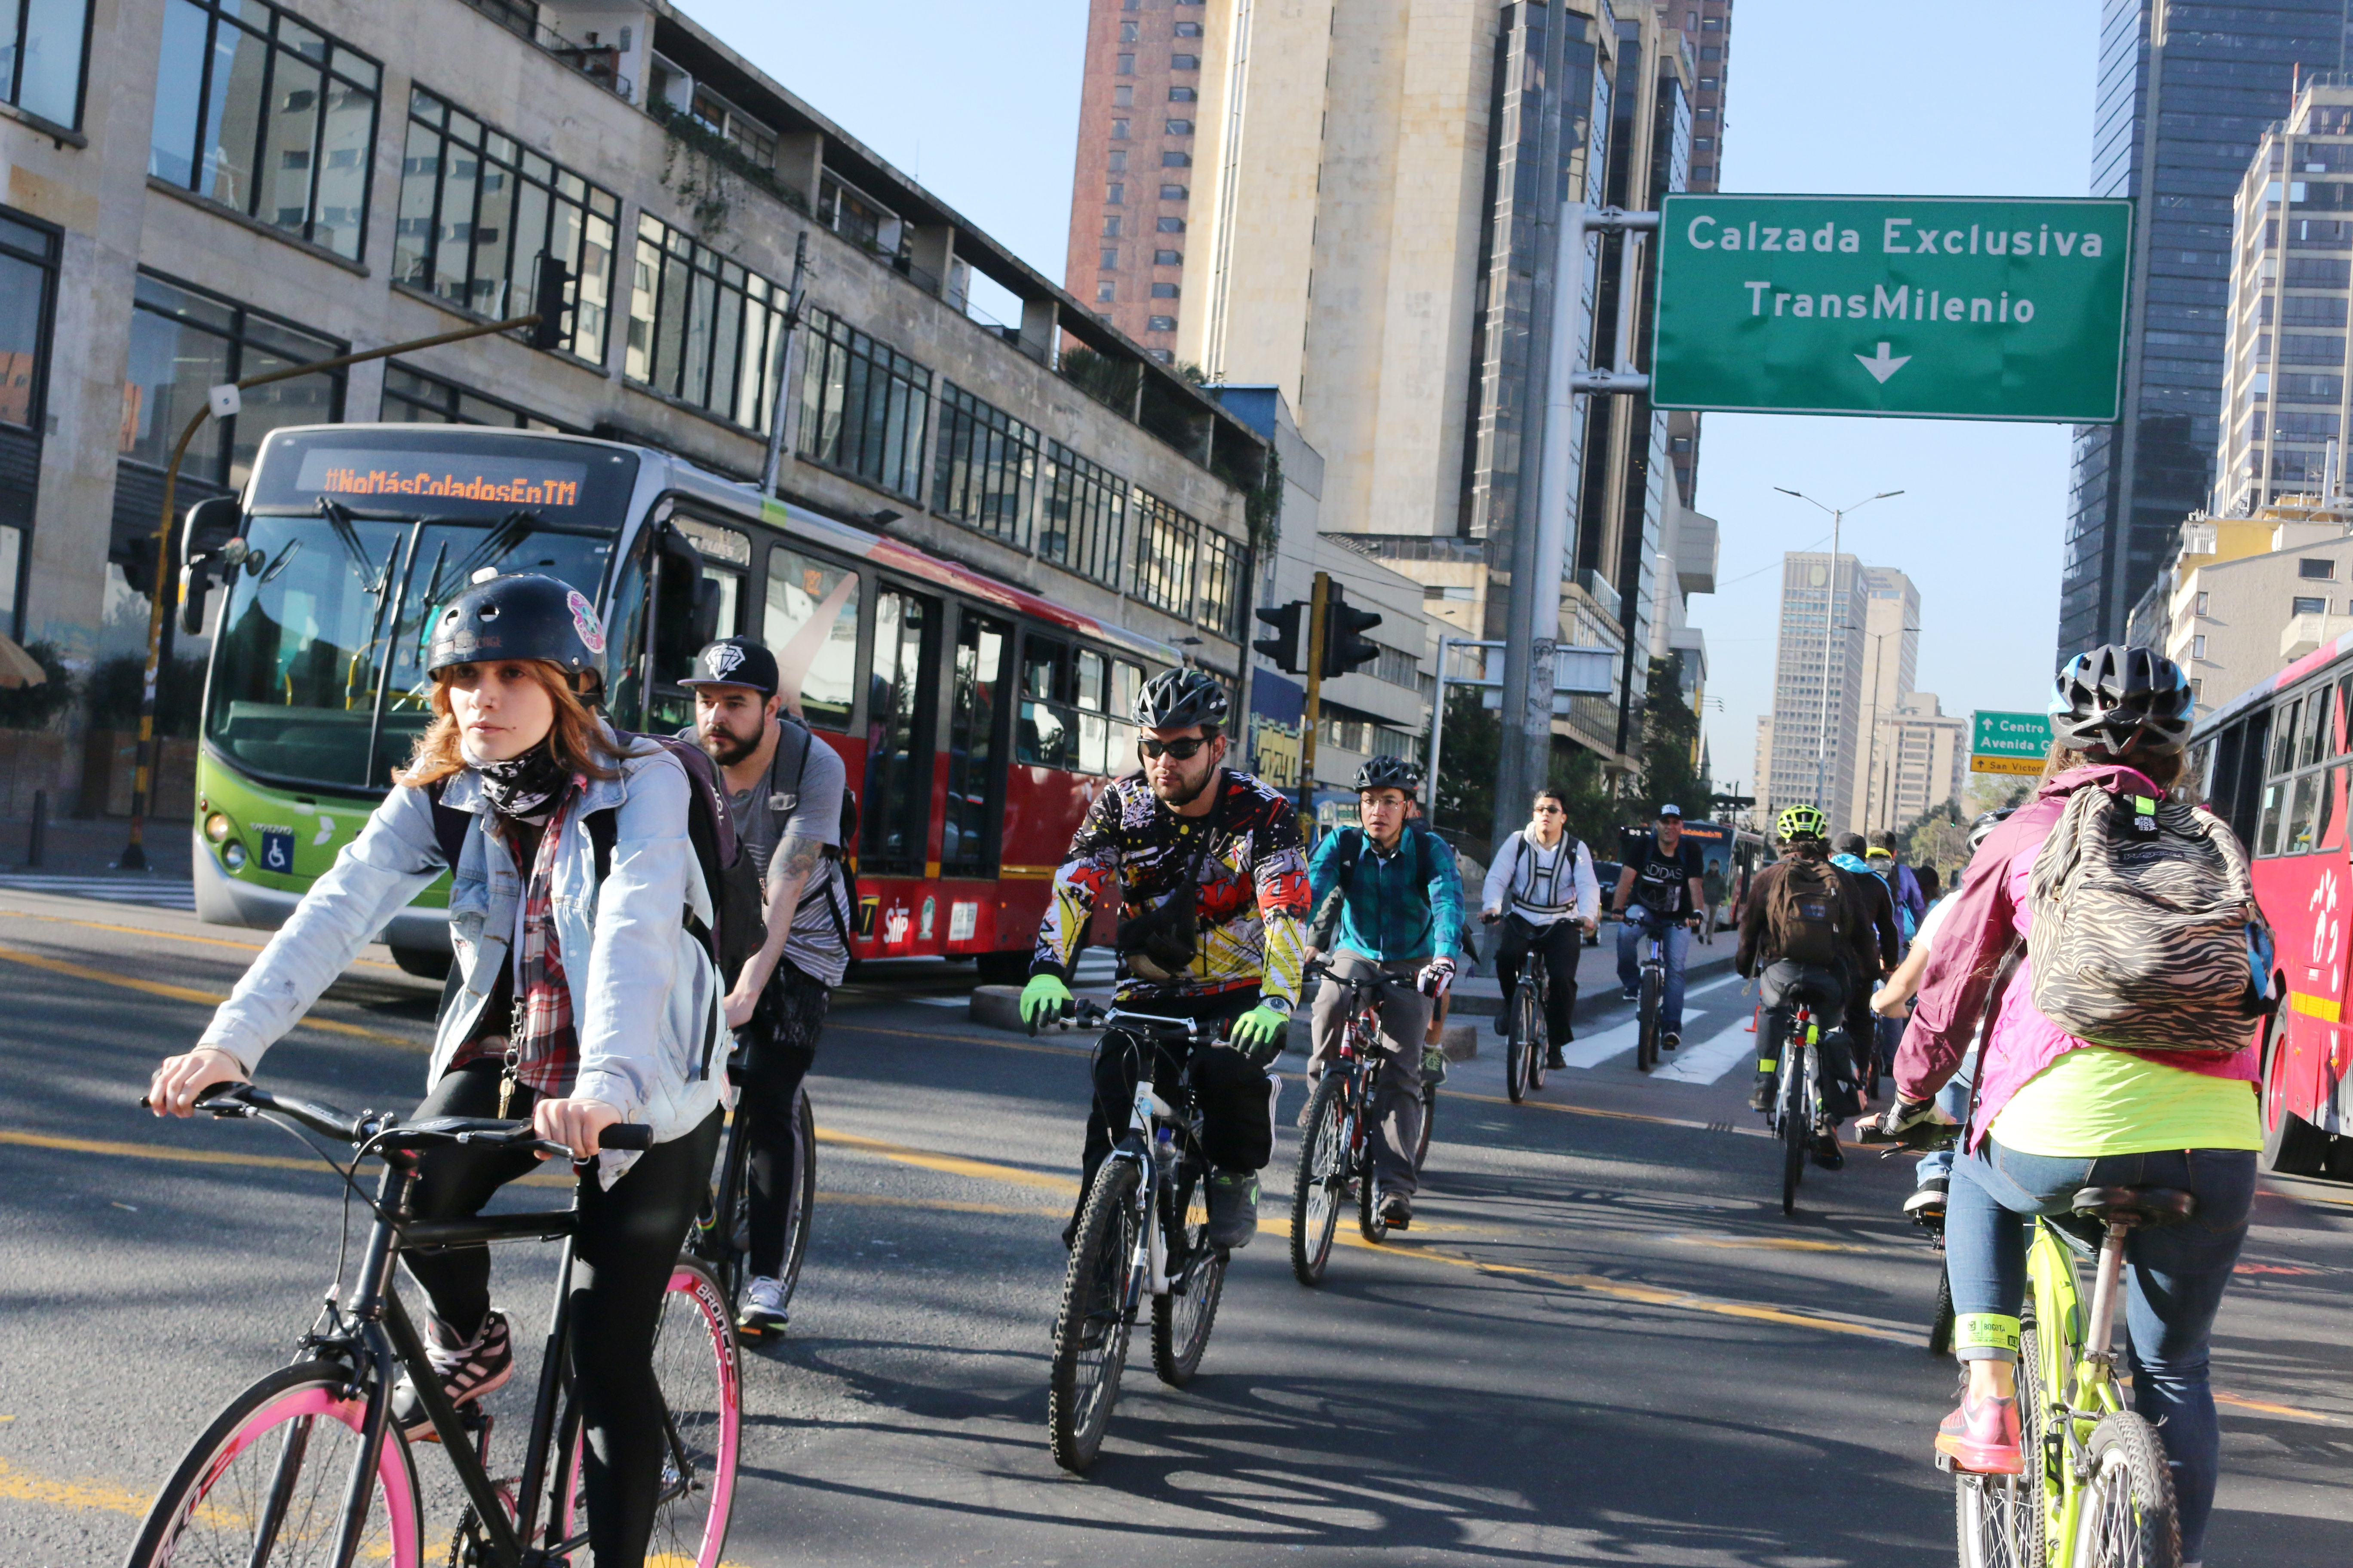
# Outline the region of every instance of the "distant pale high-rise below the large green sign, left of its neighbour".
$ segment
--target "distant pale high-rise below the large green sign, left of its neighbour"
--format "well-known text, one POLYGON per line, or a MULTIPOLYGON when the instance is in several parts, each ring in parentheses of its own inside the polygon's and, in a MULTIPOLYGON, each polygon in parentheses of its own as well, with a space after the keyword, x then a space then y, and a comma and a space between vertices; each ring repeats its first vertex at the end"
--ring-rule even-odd
POLYGON ((1852 555, 1781 557, 1781 632, 1774 644, 1772 719, 1758 738, 1758 806, 1812 804, 1833 827, 1854 820, 1864 783, 1864 628, 1868 576, 1852 555), (1769 733, 1769 745, 1765 736, 1769 733))

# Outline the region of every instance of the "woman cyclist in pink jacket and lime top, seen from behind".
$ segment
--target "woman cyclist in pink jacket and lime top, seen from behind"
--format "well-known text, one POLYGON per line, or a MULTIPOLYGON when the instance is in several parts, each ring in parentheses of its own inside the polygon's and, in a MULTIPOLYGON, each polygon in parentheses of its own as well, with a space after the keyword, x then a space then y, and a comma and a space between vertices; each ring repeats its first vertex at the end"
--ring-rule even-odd
MULTIPOLYGON (((1995 827, 1944 919, 1927 980, 1897 1058, 1904 1131, 1960 1065, 1986 1013, 2002 957, 2028 926, 2035 858, 2075 790, 2155 797, 2184 769, 2195 698, 2181 668, 2148 649, 2080 654, 2052 689, 2052 752, 2033 802, 1995 827)), ((2019 961, 1993 1011, 1977 1112, 1953 1164, 1946 1269, 1967 1368, 1960 1406, 1937 1448, 1965 1469, 2017 1474, 2014 1361, 2026 1293, 2019 1215, 2064 1215, 2080 1187, 2158 1185, 2191 1192, 2179 1225, 2134 1229, 2125 1244, 2132 1403, 2165 1443, 2181 1519, 2181 1561, 2205 1556, 2219 1434, 2207 1385, 2207 1338, 2247 1237, 2254 1152, 2261 1147, 2257 1046, 2226 1058, 2132 1053, 2066 1034, 2033 1004, 2019 961)))

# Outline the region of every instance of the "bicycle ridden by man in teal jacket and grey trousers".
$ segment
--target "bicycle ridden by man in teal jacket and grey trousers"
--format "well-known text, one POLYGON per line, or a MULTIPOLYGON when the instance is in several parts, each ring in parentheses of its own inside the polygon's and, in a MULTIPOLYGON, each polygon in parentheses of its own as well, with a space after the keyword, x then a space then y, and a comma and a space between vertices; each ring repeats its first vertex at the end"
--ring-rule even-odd
MULTIPOLYGON (((1334 980, 1348 987, 1348 1013, 1332 1060, 1308 1095, 1299 1133, 1299 1166, 1292 1173, 1292 1276, 1304 1286, 1322 1284, 1332 1260, 1332 1237, 1339 1211, 1353 1197, 1355 1225, 1367 1241, 1388 1239, 1379 1192, 1372 1178, 1372 1107, 1381 1093, 1381 999, 1402 990, 1388 976, 1334 976, 1322 964, 1308 966, 1311 980, 1334 980)), ((1424 1117, 1428 1100, 1424 1100, 1424 1117)), ((1424 1121, 1426 1124, 1426 1121, 1424 1121)), ((1421 1168, 1424 1140, 1414 1157, 1421 1168)))

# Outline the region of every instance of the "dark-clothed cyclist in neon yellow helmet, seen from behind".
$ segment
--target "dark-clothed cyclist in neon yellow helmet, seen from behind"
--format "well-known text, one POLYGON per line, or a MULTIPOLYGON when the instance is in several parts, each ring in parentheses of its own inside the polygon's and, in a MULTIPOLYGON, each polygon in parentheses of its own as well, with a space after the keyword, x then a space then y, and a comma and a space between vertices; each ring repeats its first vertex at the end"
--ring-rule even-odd
POLYGON ((1781 858, 1755 875, 1741 912, 1741 947, 1734 969, 1755 978, 1765 999, 1762 1060, 1748 1093, 1748 1110, 1772 1110, 1779 1091, 1781 1044, 1798 1001, 1812 1009, 1821 1039, 1814 1048, 1814 1086, 1821 1117, 1814 1124, 1814 1164, 1838 1171, 1847 1164, 1838 1147, 1838 1117, 1861 1110, 1854 1065, 1847 1058, 1847 976, 1854 973, 1854 933, 1864 924, 1864 891, 1831 865, 1831 823, 1817 806, 1788 806, 1774 823, 1781 858), (1765 1067, 1772 1060, 1774 1067, 1765 1067))

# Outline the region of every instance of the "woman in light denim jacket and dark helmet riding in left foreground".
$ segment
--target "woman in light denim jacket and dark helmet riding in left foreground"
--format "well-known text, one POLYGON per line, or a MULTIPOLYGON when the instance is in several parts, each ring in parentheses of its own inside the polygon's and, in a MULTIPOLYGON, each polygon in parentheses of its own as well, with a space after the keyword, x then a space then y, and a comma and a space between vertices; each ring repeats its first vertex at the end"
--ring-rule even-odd
MULTIPOLYGON (((713 919, 687 839, 692 780, 666 750, 628 750, 581 703, 605 656, 588 599, 534 574, 475 583, 433 621, 433 722, 409 766, 261 950, 202 1039, 148 1088, 158 1114, 249 1079, 384 922, 445 870, 452 985, 433 1030, 419 1117, 527 1117, 595 1159, 579 1185, 572 1366, 588 1422, 588 1535, 600 1563, 638 1563, 666 1455, 652 1345, 671 1262, 694 1220, 720 1138, 720 1084, 696 1074, 720 1023, 720 978, 680 910, 713 919), (494 658, 485 654, 494 651, 494 658), (466 813, 456 865, 435 809, 466 813), (614 818, 595 879, 588 820, 614 818), (614 1121, 645 1121, 645 1154, 598 1152, 614 1121)), ((529 1173, 522 1150, 449 1145, 419 1154, 414 1213, 473 1215, 529 1173)), ((431 1300, 433 1371, 452 1403, 513 1373, 506 1316, 489 1305, 480 1246, 405 1253, 431 1300)), ((405 1380, 393 1420, 431 1429, 405 1380)))

